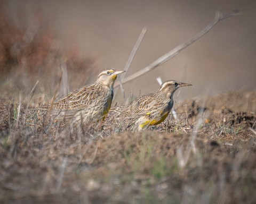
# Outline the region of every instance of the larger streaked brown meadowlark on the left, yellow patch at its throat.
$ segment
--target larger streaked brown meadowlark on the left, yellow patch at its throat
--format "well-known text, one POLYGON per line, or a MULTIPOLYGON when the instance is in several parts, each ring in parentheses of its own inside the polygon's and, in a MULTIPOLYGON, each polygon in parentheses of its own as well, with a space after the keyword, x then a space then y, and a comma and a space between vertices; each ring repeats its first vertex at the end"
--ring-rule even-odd
MULTIPOLYGON (((114 69, 102 71, 95 83, 70 92, 51 106, 54 118, 71 118, 73 122, 89 123, 104 120, 113 99, 113 86, 118 74, 114 69)), ((49 106, 50 107, 50 106, 49 106)))

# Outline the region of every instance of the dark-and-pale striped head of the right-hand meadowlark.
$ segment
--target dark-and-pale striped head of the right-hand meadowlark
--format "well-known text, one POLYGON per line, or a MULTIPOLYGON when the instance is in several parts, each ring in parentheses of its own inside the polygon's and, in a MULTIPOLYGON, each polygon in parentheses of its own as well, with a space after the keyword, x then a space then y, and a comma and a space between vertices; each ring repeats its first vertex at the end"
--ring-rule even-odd
POLYGON ((158 89, 158 92, 163 92, 167 97, 171 98, 174 92, 180 87, 192 86, 189 83, 182 83, 178 81, 165 81, 161 87, 158 89))

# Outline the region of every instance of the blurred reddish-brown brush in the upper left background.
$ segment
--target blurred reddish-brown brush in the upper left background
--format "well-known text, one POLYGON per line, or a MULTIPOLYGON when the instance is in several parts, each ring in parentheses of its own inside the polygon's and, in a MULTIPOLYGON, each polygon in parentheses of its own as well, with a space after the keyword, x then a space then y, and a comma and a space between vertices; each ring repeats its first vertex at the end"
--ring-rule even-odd
POLYGON ((63 63, 67 66, 71 88, 90 82, 90 75, 97 72, 94 59, 79 55, 76 45, 60 46, 52 29, 52 19, 44 16, 39 8, 34 12, 32 24, 22 11, 18 14, 22 16, 18 19, 19 26, 7 13, 5 1, 0 1, 1 85, 11 79, 11 86, 27 92, 39 80, 42 91, 51 92, 61 75, 63 63))

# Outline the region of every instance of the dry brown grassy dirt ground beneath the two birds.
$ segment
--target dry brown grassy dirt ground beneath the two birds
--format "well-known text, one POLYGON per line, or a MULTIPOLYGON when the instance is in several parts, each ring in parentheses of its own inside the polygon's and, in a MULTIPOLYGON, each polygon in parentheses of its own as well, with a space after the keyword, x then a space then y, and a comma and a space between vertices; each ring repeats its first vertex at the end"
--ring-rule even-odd
POLYGON ((256 91, 175 101, 141 132, 113 113, 102 130, 49 124, 31 112, 41 98, 0 100, 1 203, 256 203, 256 91))

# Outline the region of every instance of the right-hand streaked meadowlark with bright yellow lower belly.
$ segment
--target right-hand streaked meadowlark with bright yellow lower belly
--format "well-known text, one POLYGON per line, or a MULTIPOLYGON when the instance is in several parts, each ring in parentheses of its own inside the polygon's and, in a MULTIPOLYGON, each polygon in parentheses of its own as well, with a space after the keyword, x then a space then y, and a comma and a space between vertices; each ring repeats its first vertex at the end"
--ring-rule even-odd
POLYGON ((129 118, 135 128, 145 129, 150 125, 162 123, 173 107, 173 94, 179 87, 191 86, 178 81, 166 81, 153 94, 141 96, 126 107, 117 107, 114 111, 129 118))

